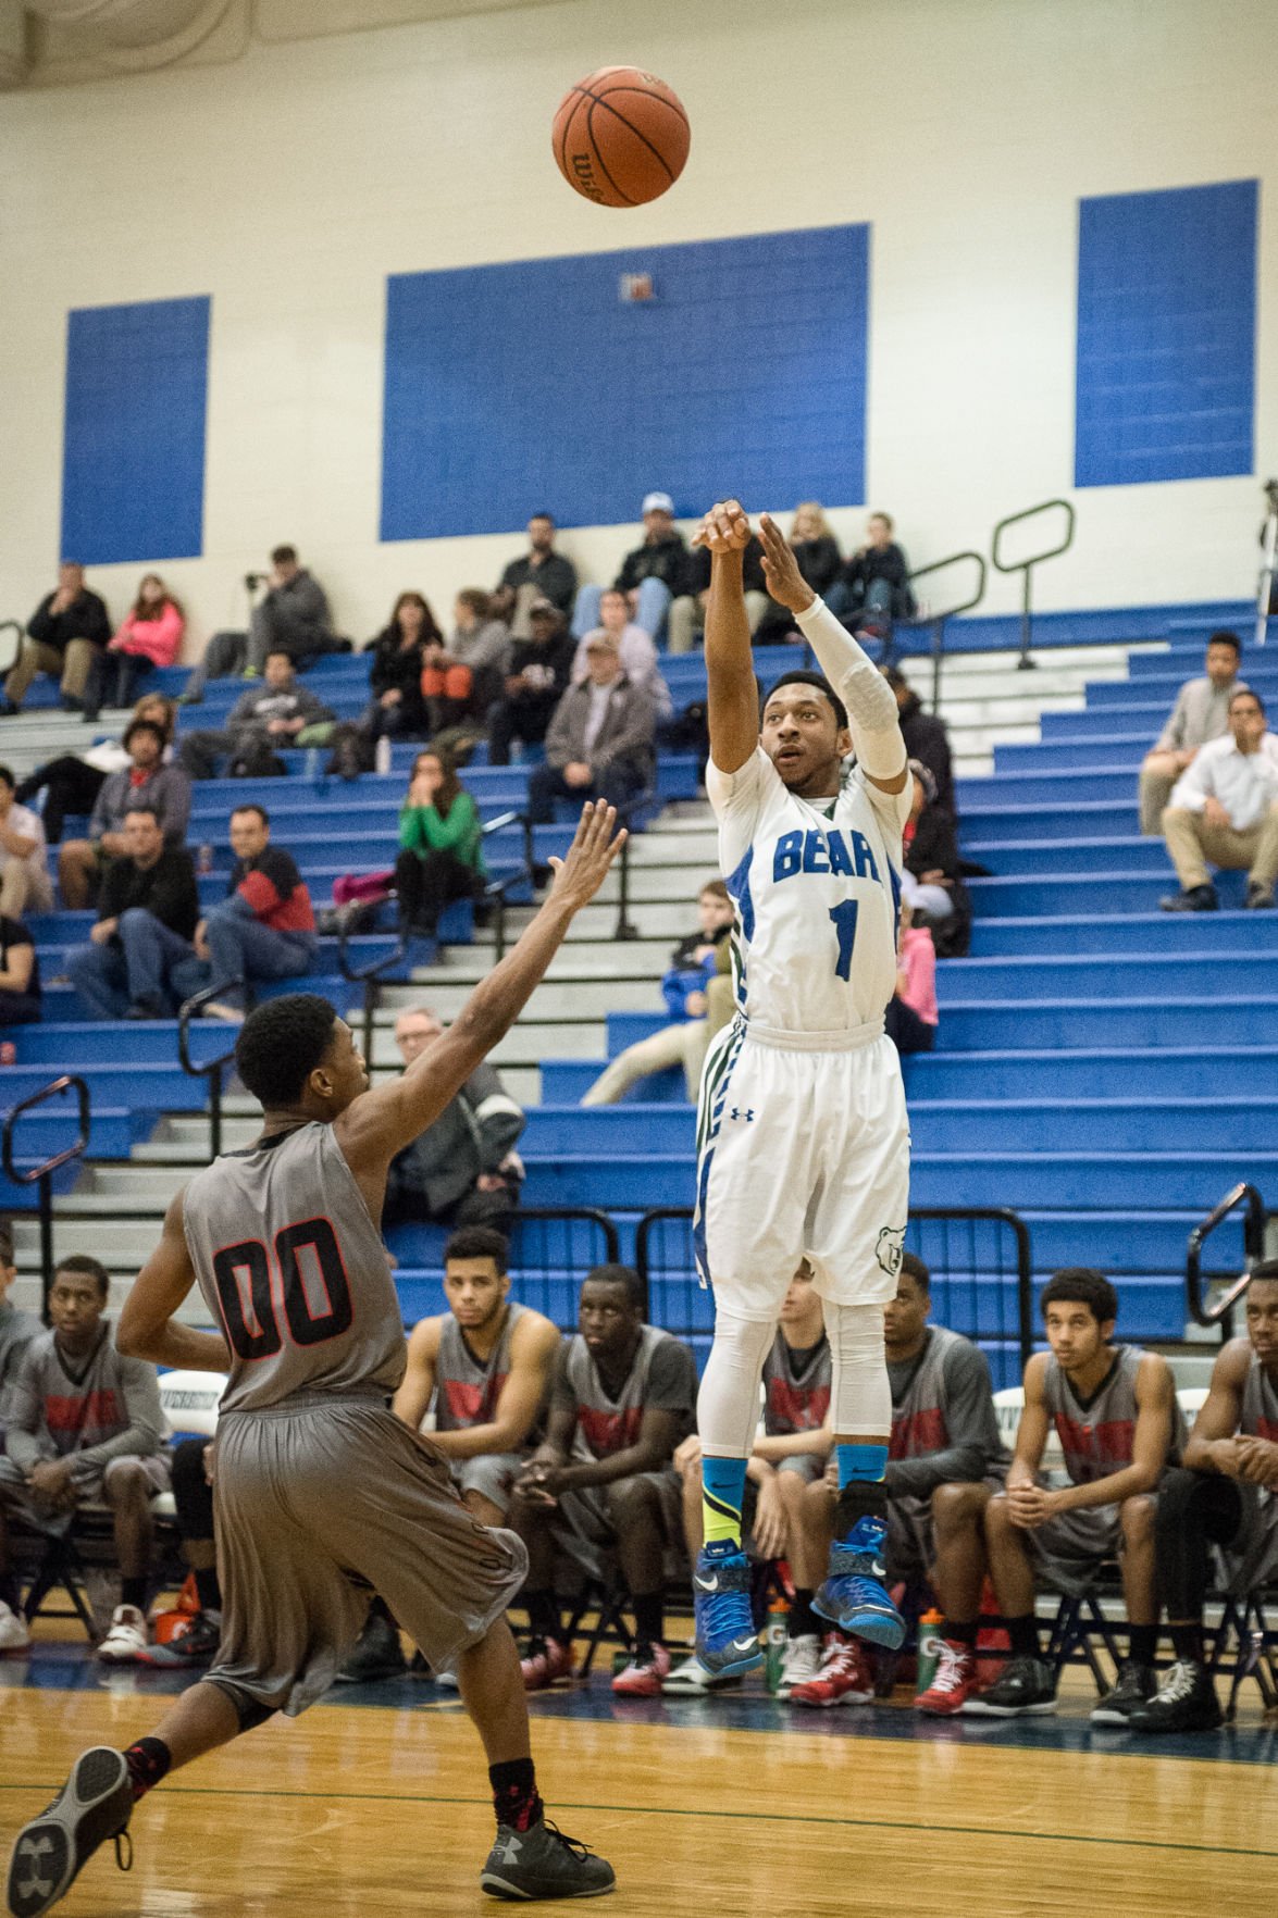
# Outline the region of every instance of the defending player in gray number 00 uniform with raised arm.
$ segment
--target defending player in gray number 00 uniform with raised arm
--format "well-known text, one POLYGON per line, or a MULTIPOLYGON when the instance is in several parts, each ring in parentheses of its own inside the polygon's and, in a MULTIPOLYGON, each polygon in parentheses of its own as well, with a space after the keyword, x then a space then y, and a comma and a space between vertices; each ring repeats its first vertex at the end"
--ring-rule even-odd
POLYGON ((169 1770, 320 1697, 359 1636, 368 1588, 436 1669, 457 1659, 497 1807, 482 1889, 507 1899, 612 1889, 612 1868, 543 1818, 503 1617, 524 1582, 524 1548, 476 1523, 443 1454, 390 1410, 405 1343, 376 1222, 393 1155, 512 1026, 603 884, 624 840, 614 829, 610 807, 583 809, 514 951, 393 1084, 368 1089, 351 1028, 313 994, 272 999, 246 1020, 236 1064, 263 1105, 263 1135, 173 1201, 117 1335, 123 1352, 155 1364, 230 1373, 215 1471, 221 1653, 150 1738, 77 1759, 13 1847, 13 1918, 56 1905, 169 1770), (194 1283, 221 1333, 175 1316, 194 1283))

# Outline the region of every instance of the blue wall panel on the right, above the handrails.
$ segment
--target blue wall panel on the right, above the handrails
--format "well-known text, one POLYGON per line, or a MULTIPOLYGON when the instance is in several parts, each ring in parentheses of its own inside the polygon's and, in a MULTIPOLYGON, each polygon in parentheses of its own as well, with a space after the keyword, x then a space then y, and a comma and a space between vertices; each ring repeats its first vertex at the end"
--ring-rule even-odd
POLYGON ((1075 485, 1253 470, 1257 180, 1078 205, 1075 485))

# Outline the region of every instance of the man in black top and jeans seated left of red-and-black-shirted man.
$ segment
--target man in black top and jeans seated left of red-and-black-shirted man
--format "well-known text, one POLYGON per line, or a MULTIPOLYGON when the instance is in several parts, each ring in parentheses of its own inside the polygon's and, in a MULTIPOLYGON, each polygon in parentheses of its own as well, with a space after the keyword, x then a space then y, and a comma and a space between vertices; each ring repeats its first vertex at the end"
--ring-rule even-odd
POLYGON ((169 1018, 203 980, 196 869, 184 846, 165 846, 150 806, 130 807, 125 844, 102 877, 90 944, 67 953, 67 978, 90 1018, 169 1018))

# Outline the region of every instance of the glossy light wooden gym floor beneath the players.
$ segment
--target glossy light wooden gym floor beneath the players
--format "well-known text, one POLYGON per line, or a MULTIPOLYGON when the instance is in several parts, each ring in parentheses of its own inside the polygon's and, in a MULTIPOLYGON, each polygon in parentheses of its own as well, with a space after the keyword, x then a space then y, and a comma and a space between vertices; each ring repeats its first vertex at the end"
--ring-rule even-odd
MULTIPOLYGON (((0 1661, 0 1837, 88 1743, 127 1743, 180 1678, 83 1646, 0 1661)), ((1278 1728, 1247 1688, 1236 1728, 1178 1747, 1057 1719, 923 1724, 885 1705, 798 1715, 762 1694, 612 1699, 604 1674, 533 1701, 551 1816, 608 1857, 635 1918, 1272 1918, 1278 1728), (1192 1753, 1192 1755, 1190 1755, 1192 1753)), ((491 1837, 478 1742, 413 1680, 340 1688, 175 1774, 67 1918, 478 1914, 491 1837)))

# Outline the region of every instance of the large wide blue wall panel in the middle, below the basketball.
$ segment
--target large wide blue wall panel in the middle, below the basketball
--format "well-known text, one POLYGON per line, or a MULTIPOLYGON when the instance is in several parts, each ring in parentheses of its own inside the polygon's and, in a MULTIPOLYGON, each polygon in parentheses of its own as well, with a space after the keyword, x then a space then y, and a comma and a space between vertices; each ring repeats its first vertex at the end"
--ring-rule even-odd
POLYGON ((649 487, 860 503, 867 278, 867 226, 391 276, 382 539, 637 520, 649 487))

